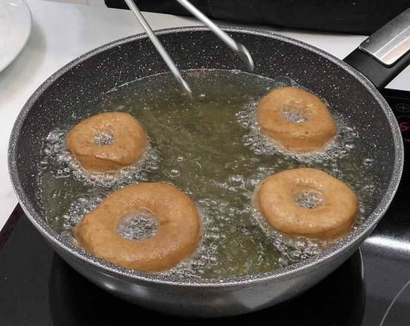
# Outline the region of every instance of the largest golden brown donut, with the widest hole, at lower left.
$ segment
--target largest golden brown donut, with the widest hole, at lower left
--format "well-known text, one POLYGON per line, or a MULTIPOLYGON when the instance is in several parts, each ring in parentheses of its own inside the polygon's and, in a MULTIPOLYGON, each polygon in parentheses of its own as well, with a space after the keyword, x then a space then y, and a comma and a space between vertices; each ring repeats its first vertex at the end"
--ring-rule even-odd
POLYGON ((87 251, 114 264, 139 271, 164 271, 193 253, 200 237, 200 218, 186 194, 164 183, 139 183, 105 198, 74 230, 87 251), (132 212, 145 210, 158 221, 153 237, 130 240, 118 224, 132 212))

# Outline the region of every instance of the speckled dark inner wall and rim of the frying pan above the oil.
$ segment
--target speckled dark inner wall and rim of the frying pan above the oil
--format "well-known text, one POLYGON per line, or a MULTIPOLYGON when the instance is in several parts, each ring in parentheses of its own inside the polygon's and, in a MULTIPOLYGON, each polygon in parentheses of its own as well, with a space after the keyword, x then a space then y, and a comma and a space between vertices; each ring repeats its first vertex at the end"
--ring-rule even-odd
MULTIPOLYGON (((315 48, 271 33, 246 29, 228 32, 251 51, 256 75, 273 80, 285 76, 326 99, 333 112, 338 112, 352 123, 360 141, 367 144, 366 157, 373 160, 358 161, 358 164, 364 166, 369 163, 372 166, 372 184, 376 191, 368 203, 371 215, 366 216, 351 238, 333 248, 339 250, 354 245, 378 221, 399 180, 401 164, 397 158, 401 157, 402 148, 399 146, 399 131, 391 122, 394 119, 392 112, 362 76, 315 48)), ((158 35, 182 70, 243 68, 239 59, 203 28, 175 29, 158 35)), ((61 237, 46 222, 38 196, 40 153, 50 131, 73 125, 82 117, 100 112, 100 104, 108 91, 132 80, 166 71, 167 67, 144 36, 132 36, 98 48, 62 68, 34 93, 16 121, 9 147, 10 173, 20 203, 43 235, 62 250, 74 253, 91 264, 136 278, 157 279, 158 276, 141 275, 137 271, 95 260, 61 237)), ((63 170, 62 173, 66 172, 63 170)), ((99 200, 104 194, 100 195, 99 200)), ((334 253, 326 251, 324 255, 316 256, 318 258, 308 259, 309 264, 296 263, 283 270, 287 273, 305 266, 312 267, 323 263, 334 253)), ((280 274, 282 269, 277 271, 280 274)), ((169 277, 159 279, 172 280, 169 277)), ((219 284, 220 281, 215 282, 219 284)), ((182 280, 178 279, 178 282, 182 280)), ((187 279, 187 282, 191 281, 187 279)))

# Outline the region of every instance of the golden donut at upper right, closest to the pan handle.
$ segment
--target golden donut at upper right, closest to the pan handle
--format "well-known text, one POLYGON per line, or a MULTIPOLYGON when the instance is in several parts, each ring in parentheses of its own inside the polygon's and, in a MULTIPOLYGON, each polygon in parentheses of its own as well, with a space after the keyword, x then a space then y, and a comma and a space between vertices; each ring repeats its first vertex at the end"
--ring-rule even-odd
POLYGON ((259 103, 257 122, 269 137, 287 150, 321 150, 336 134, 336 123, 320 98, 297 87, 282 87, 259 103), (298 122, 289 116, 299 118, 298 122))

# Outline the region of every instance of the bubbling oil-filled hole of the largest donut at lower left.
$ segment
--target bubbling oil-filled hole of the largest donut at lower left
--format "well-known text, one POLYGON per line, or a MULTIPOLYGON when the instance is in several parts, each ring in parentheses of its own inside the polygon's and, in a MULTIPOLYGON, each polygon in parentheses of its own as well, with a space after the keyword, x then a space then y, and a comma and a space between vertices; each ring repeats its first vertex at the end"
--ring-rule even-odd
POLYGON ((118 223, 117 232, 129 240, 142 240, 153 237, 158 231, 158 220, 148 210, 137 210, 128 213, 118 223))

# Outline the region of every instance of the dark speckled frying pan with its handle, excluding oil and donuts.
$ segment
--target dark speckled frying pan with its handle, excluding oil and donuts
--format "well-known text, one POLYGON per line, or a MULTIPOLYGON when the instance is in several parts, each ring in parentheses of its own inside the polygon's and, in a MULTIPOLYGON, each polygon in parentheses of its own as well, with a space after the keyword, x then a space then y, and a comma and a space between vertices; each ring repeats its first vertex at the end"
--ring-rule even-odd
MULTIPOLYGON (((377 162, 373 173, 376 189, 379 189, 369 203, 371 213, 360 227, 326 251, 264 274, 180 280, 144 274, 100 260, 68 242, 46 223, 36 198, 37 163, 43 139, 52 128, 71 121, 73 113, 84 116, 87 108, 96 105, 105 92, 117 85, 167 71, 143 34, 109 43, 75 59, 46 80, 27 101, 9 143, 10 176, 23 210, 55 251, 80 274, 146 308, 178 315, 216 317, 260 310, 300 294, 357 250, 382 218, 399 185, 403 169, 400 130, 377 87, 387 84, 410 59, 407 49, 403 49, 406 39, 402 38, 406 35, 405 27, 410 25, 409 13, 405 12, 386 27, 386 34, 396 36, 394 39, 401 42, 399 46, 391 38, 386 39, 381 30, 363 43, 361 49, 352 52, 345 62, 271 32, 224 28, 250 50, 256 74, 271 78, 287 76, 326 98, 331 106, 353 121, 361 141, 369 144, 367 155, 377 162)), ((162 30, 157 35, 181 69, 244 68, 204 27, 162 30)))

